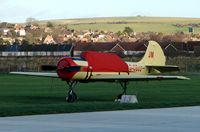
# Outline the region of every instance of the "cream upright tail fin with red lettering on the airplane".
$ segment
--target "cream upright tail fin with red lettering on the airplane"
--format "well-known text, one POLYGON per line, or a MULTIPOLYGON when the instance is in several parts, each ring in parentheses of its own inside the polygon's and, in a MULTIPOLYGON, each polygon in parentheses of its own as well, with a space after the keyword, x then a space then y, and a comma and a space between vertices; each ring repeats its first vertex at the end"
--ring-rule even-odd
POLYGON ((144 57, 139 62, 149 66, 165 66, 166 58, 160 45, 155 41, 149 41, 144 57))

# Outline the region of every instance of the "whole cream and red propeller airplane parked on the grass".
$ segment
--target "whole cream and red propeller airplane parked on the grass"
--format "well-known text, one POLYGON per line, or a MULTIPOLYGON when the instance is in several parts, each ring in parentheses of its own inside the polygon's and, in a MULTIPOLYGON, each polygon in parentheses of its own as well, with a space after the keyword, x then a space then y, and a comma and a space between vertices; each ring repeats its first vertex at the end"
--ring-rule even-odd
MULTIPOLYGON (((71 54, 73 56, 73 51, 71 54)), ((69 103, 77 100, 74 87, 78 82, 119 82, 123 88, 123 92, 117 97, 120 99, 122 95, 126 95, 129 81, 189 80, 184 76, 161 75, 165 72, 179 71, 179 67, 166 65, 163 50, 155 41, 149 41, 147 50, 139 62, 125 62, 114 53, 86 51, 80 57, 62 57, 57 65, 43 65, 42 70, 51 72, 10 73, 61 78, 69 86, 66 97, 69 103)))

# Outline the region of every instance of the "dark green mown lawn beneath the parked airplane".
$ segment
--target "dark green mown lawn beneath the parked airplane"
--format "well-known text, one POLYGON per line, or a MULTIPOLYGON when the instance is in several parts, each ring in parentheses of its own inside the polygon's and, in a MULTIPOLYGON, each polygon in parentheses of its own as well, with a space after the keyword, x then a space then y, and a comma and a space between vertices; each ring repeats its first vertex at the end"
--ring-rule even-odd
POLYGON ((114 102, 121 92, 119 84, 78 84, 79 99, 69 104, 64 81, 0 74, 0 116, 200 105, 200 76, 190 77, 190 81, 131 82, 128 94, 137 94, 138 104, 114 102))

